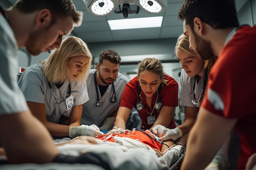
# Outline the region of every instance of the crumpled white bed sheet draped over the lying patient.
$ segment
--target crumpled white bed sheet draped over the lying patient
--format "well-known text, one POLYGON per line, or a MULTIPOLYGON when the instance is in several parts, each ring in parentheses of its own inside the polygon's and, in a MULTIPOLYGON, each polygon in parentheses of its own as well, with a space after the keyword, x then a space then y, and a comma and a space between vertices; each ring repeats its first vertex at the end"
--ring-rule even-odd
POLYGON ((178 146, 167 151, 164 156, 157 157, 152 148, 139 140, 119 136, 113 139, 115 142, 98 139, 99 144, 93 145, 65 144, 58 146, 58 149, 64 155, 73 156, 78 156, 81 152, 98 153, 110 163, 111 169, 118 170, 167 170, 179 159, 182 149, 182 146, 178 146))

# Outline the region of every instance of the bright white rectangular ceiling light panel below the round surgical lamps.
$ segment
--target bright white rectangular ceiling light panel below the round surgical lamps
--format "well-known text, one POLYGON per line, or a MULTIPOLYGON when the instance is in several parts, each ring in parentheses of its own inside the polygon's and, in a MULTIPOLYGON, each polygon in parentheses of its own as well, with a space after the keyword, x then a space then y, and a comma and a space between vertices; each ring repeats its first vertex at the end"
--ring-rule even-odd
POLYGON ((108 20, 111 30, 125 30, 137 28, 156 28, 162 26, 163 17, 130 18, 121 20, 108 20))

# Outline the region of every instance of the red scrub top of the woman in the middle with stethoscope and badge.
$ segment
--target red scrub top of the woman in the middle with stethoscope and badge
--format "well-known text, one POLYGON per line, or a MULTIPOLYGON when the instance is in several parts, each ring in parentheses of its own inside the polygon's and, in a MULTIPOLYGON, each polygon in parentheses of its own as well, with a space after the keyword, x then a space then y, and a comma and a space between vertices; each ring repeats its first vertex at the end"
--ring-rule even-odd
MULTIPOLYGON (((174 78, 168 75, 164 75, 164 79, 167 80, 167 85, 164 86, 163 88, 160 88, 160 95, 159 95, 160 102, 162 102, 162 106, 177 107, 178 106, 178 83, 177 81, 175 81, 174 78)), ((132 109, 132 107, 135 107, 135 109, 137 109, 136 104, 139 102, 138 89, 139 89, 139 80, 138 80, 138 76, 135 76, 135 78, 133 78, 126 84, 126 87, 124 89, 124 92, 121 98, 120 107, 126 107, 129 109, 132 109)), ((139 113, 139 117, 141 118, 141 129, 147 130, 153 126, 153 124, 148 124, 148 117, 150 116, 148 112, 149 111, 151 112, 153 110, 153 107, 155 107, 157 92, 153 94, 150 109, 146 108, 147 107, 146 96, 142 90, 141 90, 141 97, 142 97, 144 109, 142 109, 141 111, 137 109, 137 111, 139 113), (147 109, 148 109, 148 112, 147 112, 147 109)), ((157 102, 158 102, 158 99, 157 99, 157 102)), ((161 109, 158 111, 154 109, 151 116, 155 116, 155 120, 157 120, 160 111, 161 109)), ((168 128, 174 129, 175 127, 176 127, 175 121, 174 121, 174 118, 172 118, 168 128)))

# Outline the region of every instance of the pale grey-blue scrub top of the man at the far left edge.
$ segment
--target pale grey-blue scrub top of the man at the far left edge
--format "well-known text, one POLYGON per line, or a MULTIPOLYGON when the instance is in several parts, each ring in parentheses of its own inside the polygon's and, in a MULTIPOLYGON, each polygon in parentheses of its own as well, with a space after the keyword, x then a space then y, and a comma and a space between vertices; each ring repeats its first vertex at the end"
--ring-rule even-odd
POLYGON ((17 84, 17 42, 12 28, 0 13, 0 114, 28 110, 27 102, 17 84))

